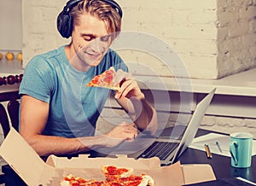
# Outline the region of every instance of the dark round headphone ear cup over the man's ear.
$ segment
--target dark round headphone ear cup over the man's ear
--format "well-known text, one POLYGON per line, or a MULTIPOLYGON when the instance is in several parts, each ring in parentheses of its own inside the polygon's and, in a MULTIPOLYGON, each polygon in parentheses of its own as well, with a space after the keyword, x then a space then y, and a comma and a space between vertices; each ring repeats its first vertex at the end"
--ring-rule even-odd
POLYGON ((57 17, 57 28, 63 38, 69 38, 73 30, 72 17, 62 11, 57 17))

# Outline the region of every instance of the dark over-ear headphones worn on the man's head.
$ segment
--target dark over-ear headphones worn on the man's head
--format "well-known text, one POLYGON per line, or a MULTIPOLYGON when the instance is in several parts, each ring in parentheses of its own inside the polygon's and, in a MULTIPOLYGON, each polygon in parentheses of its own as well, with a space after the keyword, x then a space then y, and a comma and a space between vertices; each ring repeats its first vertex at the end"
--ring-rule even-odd
MULTIPOLYGON (((83 0, 70 0, 67 2, 64 9, 57 17, 57 28, 58 31, 61 33, 63 38, 69 38, 73 31, 73 17, 69 15, 70 11, 75 7, 79 2, 83 0)), ((123 16, 123 11, 118 3, 114 2, 113 0, 101 0, 102 2, 110 4, 113 9, 116 9, 119 13, 120 17, 123 16)))

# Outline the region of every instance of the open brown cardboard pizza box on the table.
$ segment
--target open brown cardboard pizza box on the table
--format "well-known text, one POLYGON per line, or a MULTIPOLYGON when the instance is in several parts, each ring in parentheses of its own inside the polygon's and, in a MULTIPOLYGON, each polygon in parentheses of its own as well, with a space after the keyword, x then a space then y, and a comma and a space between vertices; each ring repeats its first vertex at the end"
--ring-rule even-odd
POLYGON ((60 185, 68 174, 77 177, 104 180, 102 166, 131 167, 134 174, 146 173, 153 177, 154 185, 186 185, 215 180, 209 165, 160 166, 158 158, 134 160, 117 158, 89 158, 83 154, 67 159, 50 155, 44 162, 33 148, 12 128, 0 147, 0 155, 27 185, 60 185))

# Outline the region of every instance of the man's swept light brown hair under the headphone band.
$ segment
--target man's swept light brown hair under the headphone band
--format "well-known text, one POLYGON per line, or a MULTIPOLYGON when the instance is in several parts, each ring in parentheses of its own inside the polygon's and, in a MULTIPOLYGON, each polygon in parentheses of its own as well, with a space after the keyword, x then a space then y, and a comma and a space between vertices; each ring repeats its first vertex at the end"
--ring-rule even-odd
POLYGON ((70 15, 73 17, 73 25, 79 26, 79 17, 84 13, 103 20, 109 34, 117 33, 114 34, 115 37, 121 31, 121 17, 116 9, 113 9, 108 3, 100 0, 83 0, 79 2, 70 12, 70 15))

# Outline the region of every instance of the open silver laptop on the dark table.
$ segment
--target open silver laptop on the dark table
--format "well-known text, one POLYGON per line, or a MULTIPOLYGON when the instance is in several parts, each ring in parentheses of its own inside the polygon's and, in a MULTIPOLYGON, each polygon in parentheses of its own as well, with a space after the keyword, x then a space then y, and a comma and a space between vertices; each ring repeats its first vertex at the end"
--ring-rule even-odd
POLYGON ((151 143, 149 143, 146 148, 143 148, 143 150, 135 154, 130 154, 129 157, 139 159, 156 156, 160 158, 161 166, 168 166, 174 163, 193 141, 215 91, 216 88, 197 104, 195 112, 192 114, 188 125, 177 125, 172 127, 172 131, 173 129, 183 131, 181 137, 171 137, 173 134, 172 131, 167 131, 167 134, 169 134, 169 137, 167 137, 165 134, 166 131, 164 131, 162 132, 163 135, 160 134, 160 137, 152 138, 151 143))

